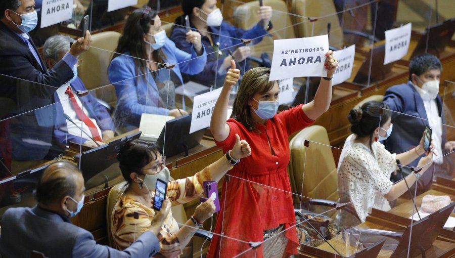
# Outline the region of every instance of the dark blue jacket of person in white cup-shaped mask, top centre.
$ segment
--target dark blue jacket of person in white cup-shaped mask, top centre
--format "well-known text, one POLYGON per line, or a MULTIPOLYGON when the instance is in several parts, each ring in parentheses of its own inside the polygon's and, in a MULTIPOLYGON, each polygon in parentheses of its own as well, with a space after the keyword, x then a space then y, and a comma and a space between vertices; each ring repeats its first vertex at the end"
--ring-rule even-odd
MULTIPOLYGON (((193 31, 198 31, 196 27, 193 25, 193 23, 190 23, 191 29, 193 31)), ((232 52, 234 52, 239 46, 234 47, 235 45, 239 45, 242 43, 242 41, 236 39, 236 38, 256 38, 263 36, 267 34, 267 31, 258 23, 254 27, 252 27, 249 30, 244 30, 241 28, 234 27, 232 25, 229 25, 228 23, 222 22, 221 23, 221 29, 219 27, 209 27, 210 32, 213 34, 210 34, 212 37, 212 40, 214 44, 216 42, 219 42, 219 49, 231 49, 232 52), (221 32, 221 36, 219 36, 219 33, 221 32)), ((186 36, 187 30, 185 27, 177 27, 175 26, 172 30, 172 35, 171 39, 172 41, 175 42, 175 45, 177 48, 190 53, 193 49, 193 45, 190 44, 187 41, 187 36, 186 36)), ((253 41, 254 44, 257 44, 262 40, 262 37, 256 39, 253 41)), ((219 72, 219 68, 223 64, 223 60, 225 57, 229 56, 229 52, 227 50, 222 51, 222 55, 219 56, 218 60, 216 60, 216 52, 217 50, 211 46, 210 40, 208 39, 207 36, 202 36, 202 45, 205 47, 207 50, 208 56, 207 56, 207 63, 204 66, 204 70, 201 73, 191 75, 189 76, 189 79, 198 83, 201 83, 203 85, 206 85, 210 87, 214 81, 215 81, 215 74, 217 74, 217 84, 222 85, 224 83, 224 78, 226 76, 226 72, 228 69, 222 70, 222 72, 219 72), (216 70, 218 68, 218 71, 216 70)), ((243 45, 241 45, 243 46, 243 45)), ((243 65, 244 62, 241 62, 240 64, 242 66, 242 70, 244 69, 243 65)), ((249 70, 249 64, 247 62, 247 68, 246 70, 249 70)))

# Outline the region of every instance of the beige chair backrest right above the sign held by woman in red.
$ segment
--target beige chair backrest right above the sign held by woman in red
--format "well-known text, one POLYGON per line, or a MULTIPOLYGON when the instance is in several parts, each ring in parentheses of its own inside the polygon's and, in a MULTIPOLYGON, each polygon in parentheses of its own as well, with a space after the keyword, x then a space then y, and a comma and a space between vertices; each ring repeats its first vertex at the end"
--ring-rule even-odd
POLYGON ((336 15, 335 4, 333 0, 292 0, 291 13, 304 17, 328 17, 320 18, 317 21, 310 22, 307 18, 292 16, 296 37, 310 37, 314 23, 313 35, 327 34, 327 24, 330 22, 331 29, 329 35, 329 45, 336 48, 343 48, 343 28, 340 26, 338 15, 336 15))

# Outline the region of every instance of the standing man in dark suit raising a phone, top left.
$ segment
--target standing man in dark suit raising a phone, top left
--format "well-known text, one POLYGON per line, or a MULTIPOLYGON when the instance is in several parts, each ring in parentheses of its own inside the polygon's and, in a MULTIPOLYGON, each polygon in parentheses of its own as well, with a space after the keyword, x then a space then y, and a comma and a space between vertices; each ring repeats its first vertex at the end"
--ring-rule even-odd
POLYGON ((3 159, 40 160, 48 156, 55 124, 55 109, 49 105, 55 91, 74 76, 77 57, 92 42, 87 31, 85 38, 79 38, 48 70, 28 34, 37 21, 33 0, 0 1, 0 100, 14 106, 0 111, 0 127, 11 132, 0 136, 10 141, 2 146, 11 146, 11 151, 0 148, 3 159))

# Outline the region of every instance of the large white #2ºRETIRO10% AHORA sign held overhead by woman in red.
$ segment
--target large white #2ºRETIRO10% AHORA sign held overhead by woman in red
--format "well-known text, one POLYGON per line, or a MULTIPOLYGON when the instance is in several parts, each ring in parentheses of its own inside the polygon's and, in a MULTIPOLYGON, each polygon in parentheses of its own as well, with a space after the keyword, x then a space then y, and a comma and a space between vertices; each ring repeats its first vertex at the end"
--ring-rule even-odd
POLYGON ((274 40, 269 80, 302 76, 327 76, 324 67, 329 51, 327 35, 274 40))

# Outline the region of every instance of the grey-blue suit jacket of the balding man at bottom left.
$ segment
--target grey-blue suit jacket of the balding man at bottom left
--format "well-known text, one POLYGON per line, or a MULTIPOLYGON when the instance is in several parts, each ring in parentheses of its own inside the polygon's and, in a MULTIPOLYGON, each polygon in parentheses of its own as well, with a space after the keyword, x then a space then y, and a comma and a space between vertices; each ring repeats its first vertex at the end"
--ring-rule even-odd
POLYGON ((99 245, 93 235, 57 213, 33 208, 9 208, 2 217, 0 254, 2 258, 30 257, 31 251, 46 257, 144 257, 160 249, 158 238, 150 231, 142 234, 124 251, 99 245))

